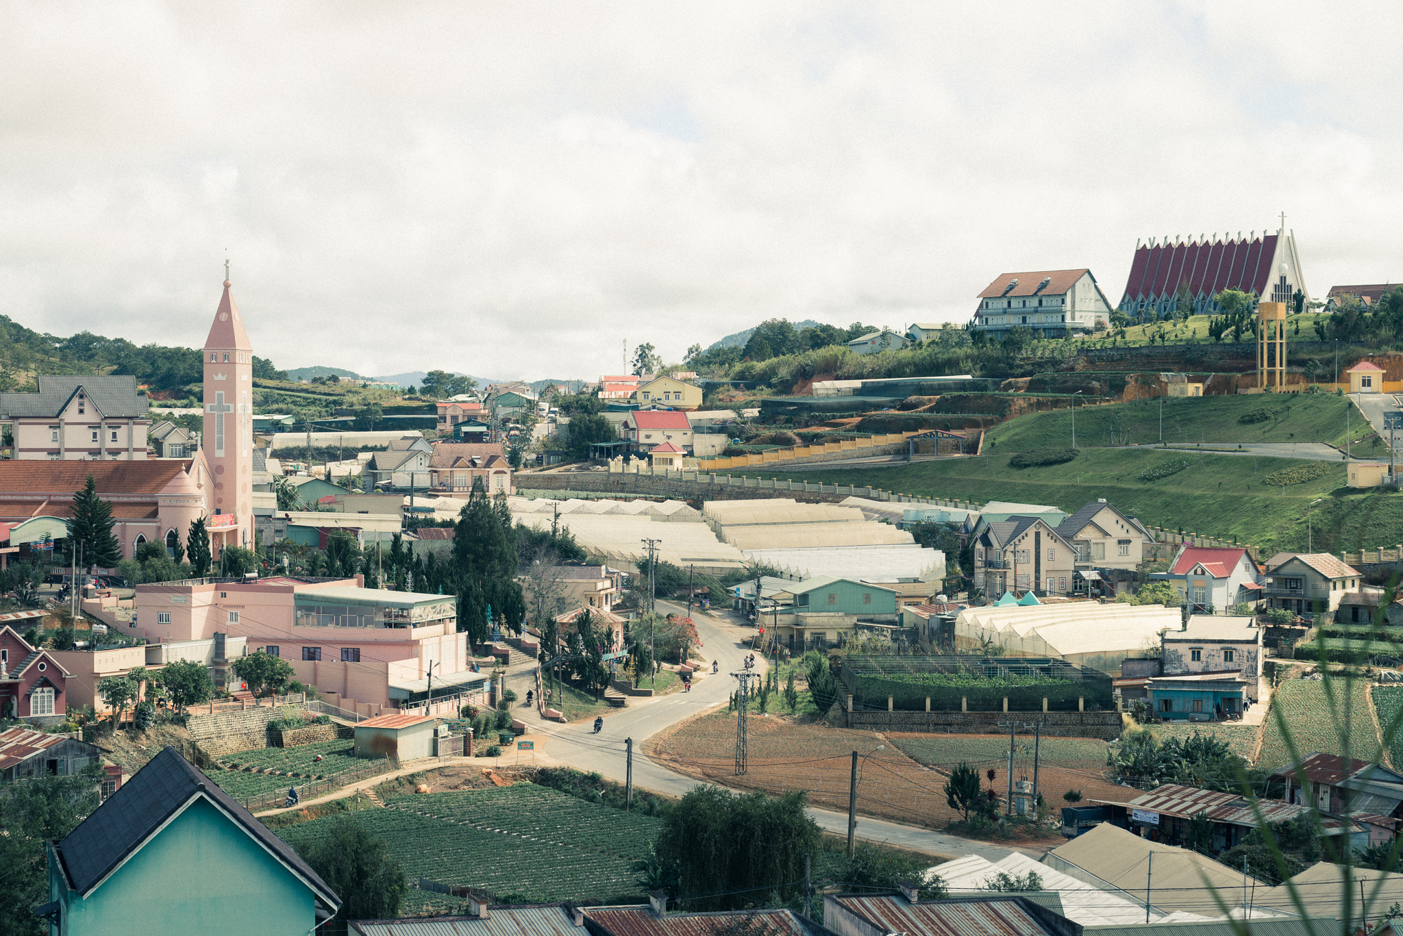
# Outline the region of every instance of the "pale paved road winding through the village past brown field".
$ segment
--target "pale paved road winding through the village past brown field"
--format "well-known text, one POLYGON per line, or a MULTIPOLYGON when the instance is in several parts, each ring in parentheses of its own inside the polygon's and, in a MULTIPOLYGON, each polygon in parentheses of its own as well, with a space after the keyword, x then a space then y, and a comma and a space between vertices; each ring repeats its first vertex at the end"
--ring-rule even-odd
MULTIPOLYGON (((685 613, 686 610, 685 606, 672 606, 661 601, 658 602, 658 608, 664 613, 685 613)), ((651 761, 643 754, 643 742, 683 718, 725 704, 735 689, 735 679, 728 674, 741 668, 745 657, 745 650, 741 644, 755 631, 741 627, 720 615, 709 616, 697 613, 693 617, 704 653, 721 664, 718 675, 713 676, 707 674, 704 678, 696 679, 692 692, 676 692, 657 699, 631 699, 629 707, 605 717, 603 731, 598 735, 593 734, 593 727, 588 721, 578 724, 547 721, 532 724, 532 733, 550 737, 550 741, 544 745, 546 756, 581 770, 596 770, 610 780, 623 783, 627 773, 624 740, 631 737, 634 741, 634 786, 676 797, 699 786, 699 780, 669 770, 651 761)), ((808 810, 808 814, 824 831, 840 835, 847 834, 847 814, 815 808, 808 810)), ((857 820, 857 835, 859 838, 888 842, 901 848, 936 855, 982 855, 992 862, 998 862, 1012 852, 1012 849, 986 842, 961 839, 932 829, 866 817, 859 817, 857 820)), ((1041 856, 1042 852, 1033 850, 1028 853, 1041 856)))

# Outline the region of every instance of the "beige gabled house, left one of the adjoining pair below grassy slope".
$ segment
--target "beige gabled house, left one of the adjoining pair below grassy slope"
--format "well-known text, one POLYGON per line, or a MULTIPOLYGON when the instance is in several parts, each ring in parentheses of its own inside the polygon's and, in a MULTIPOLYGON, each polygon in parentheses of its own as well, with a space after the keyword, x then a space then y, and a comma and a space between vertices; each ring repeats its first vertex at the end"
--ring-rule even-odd
POLYGON ((1066 595, 1076 588, 1076 550, 1045 519, 1013 516, 979 526, 974 587, 989 598, 1007 591, 1066 595))

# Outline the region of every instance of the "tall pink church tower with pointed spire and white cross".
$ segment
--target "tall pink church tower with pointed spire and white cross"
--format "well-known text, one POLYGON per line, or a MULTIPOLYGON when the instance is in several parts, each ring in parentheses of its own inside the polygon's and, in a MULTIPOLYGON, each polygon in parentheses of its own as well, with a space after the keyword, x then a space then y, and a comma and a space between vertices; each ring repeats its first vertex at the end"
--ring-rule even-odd
POLYGON ((253 542, 253 387, 254 352, 230 295, 224 261, 224 295, 205 338, 205 436, 202 446, 215 490, 213 516, 206 521, 213 551, 253 542))

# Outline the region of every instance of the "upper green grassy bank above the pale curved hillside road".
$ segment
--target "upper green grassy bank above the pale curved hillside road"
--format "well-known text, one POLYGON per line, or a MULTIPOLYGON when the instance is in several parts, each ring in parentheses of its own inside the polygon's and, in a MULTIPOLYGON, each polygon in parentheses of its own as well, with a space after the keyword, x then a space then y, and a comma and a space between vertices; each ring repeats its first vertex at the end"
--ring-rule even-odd
MULTIPOLYGON (((1345 410, 1350 410, 1350 435, 1355 439, 1369 432, 1364 414, 1348 397, 1331 393, 1263 393, 1253 396, 1216 396, 1166 399, 1163 401, 1163 436, 1160 436, 1160 401, 1136 400, 1076 408, 1079 446, 1110 445, 1114 431, 1117 445, 1153 445, 1163 439, 1184 442, 1326 442, 1344 446, 1345 410), (1243 418, 1268 418, 1243 422, 1243 418)), ((989 429, 985 445, 999 450, 1069 448, 1072 411, 1031 413, 989 429)))

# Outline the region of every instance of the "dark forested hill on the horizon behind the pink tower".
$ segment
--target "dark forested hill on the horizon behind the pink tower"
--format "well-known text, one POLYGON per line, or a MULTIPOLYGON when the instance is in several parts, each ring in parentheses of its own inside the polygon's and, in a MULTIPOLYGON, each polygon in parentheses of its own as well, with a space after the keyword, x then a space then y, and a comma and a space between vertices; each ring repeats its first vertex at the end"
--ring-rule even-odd
MULTIPOLYGON (((104 338, 91 331, 60 338, 25 328, 0 316, 0 390, 34 386, 41 373, 130 373, 152 390, 173 390, 203 379, 199 351, 126 338, 104 338)), ((254 376, 286 380, 265 358, 254 358, 254 376)))

